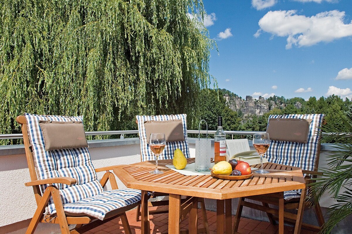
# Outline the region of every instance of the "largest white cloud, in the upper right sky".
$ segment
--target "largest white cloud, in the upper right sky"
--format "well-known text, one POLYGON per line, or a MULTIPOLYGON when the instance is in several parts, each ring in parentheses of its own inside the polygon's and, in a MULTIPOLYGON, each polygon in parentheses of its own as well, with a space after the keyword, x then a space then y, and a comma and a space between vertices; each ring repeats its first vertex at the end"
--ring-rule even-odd
MULTIPOLYGON (((269 11, 259 20, 261 31, 272 36, 287 37, 286 49, 311 46, 319 42, 331 42, 352 36, 352 21, 344 23, 345 12, 333 10, 306 17, 291 11, 269 11)), ((260 35, 260 31, 254 36, 260 35)))

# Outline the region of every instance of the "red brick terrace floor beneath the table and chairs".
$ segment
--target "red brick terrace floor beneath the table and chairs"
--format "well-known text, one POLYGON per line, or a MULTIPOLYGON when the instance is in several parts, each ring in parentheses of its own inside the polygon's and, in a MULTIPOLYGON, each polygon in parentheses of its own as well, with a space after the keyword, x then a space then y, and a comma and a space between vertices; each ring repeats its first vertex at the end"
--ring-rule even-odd
MULTIPOLYGON (((130 223, 132 233, 141 233, 140 230, 140 221, 136 221, 136 209, 130 210, 126 213, 128 222, 130 223)), ((199 227, 203 227, 203 220, 201 217, 201 211, 199 210, 199 227)), ((168 233, 168 214, 157 214, 150 215, 150 228, 152 234, 158 233, 168 233)), ((210 234, 216 233, 216 212, 207 211, 208 223, 209 223, 209 232, 210 234)), ((232 221, 234 221, 234 215, 232 216, 232 221)), ((233 222, 232 222, 233 224, 233 222)), ((181 222, 181 230, 186 230, 188 228, 188 217, 186 217, 181 222)), ((252 220, 249 218, 241 218, 239 224, 239 233, 241 234, 276 234, 278 233, 278 226, 273 226, 269 222, 252 220)), ((294 227, 285 226, 284 233, 291 234, 294 232, 294 227)), ((84 234, 118 234, 124 233, 122 228, 122 223, 120 218, 115 218, 112 221, 109 221, 99 227, 96 227, 89 232, 84 234)), ((304 234, 316 234, 316 232, 302 230, 301 233, 304 234)))

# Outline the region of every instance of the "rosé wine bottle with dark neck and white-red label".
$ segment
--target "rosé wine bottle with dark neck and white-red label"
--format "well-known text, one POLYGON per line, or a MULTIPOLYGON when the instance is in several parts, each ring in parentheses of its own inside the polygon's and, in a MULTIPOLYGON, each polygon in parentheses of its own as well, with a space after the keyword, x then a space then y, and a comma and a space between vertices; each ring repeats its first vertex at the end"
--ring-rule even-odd
POLYGON ((218 130, 214 136, 214 161, 226 161, 226 133, 222 130, 222 117, 218 117, 218 130))

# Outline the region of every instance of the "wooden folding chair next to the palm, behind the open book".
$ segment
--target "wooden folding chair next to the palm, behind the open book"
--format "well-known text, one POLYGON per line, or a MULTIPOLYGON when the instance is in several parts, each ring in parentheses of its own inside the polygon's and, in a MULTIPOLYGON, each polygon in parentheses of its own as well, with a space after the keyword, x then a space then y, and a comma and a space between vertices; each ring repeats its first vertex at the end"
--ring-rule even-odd
MULTIPOLYGON (((266 152, 269 162, 274 162, 277 164, 284 164, 288 166, 301 167, 302 172, 305 175, 306 180, 306 190, 304 192, 304 198, 309 193, 309 183, 312 183, 311 178, 316 178, 318 175, 318 164, 319 164, 319 153, 320 153, 320 137, 318 131, 320 130, 321 124, 323 124, 324 115, 322 114, 311 114, 311 115, 271 115, 270 118, 300 118, 300 119, 312 119, 309 125, 309 134, 307 143, 300 142, 289 142, 289 141, 279 141, 271 140, 270 147, 266 152)), ((270 136, 269 136, 270 137, 270 136)), ((262 210, 266 212, 269 217, 271 224, 276 224, 275 220, 278 220, 279 213, 284 213, 285 221, 295 224, 297 220, 297 215, 303 217, 303 209, 311 207, 314 205, 316 211, 318 223, 320 226, 313 226, 311 224, 300 223, 299 227, 319 231, 324 223, 324 217, 321 212, 319 203, 311 204, 307 199, 304 199, 302 214, 294 214, 284 211, 298 210, 298 205, 300 204, 301 191, 292 190, 281 193, 271 193, 265 195, 242 197, 239 200, 237 213, 235 217, 233 233, 237 233, 238 224, 241 217, 242 208, 250 207, 257 210, 262 210), (245 201, 245 199, 250 199, 262 203, 256 204, 250 201, 245 201), (269 204, 276 205, 278 209, 270 207, 269 204)), ((283 220, 282 220, 283 222, 283 220)), ((302 218, 298 220, 302 222, 302 218)), ((283 227, 283 225, 282 225, 283 227)), ((301 228, 296 230, 297 233, 300 232, 301 228)))

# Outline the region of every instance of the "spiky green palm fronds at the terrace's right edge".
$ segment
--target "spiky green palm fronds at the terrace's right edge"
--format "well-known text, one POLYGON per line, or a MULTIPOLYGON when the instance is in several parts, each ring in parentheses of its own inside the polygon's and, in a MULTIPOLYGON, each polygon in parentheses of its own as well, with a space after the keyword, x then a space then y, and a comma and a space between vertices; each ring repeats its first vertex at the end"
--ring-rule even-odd
POLYGON ((337 202, 329 207, 329 219, 322 233, 330 233, 338 222, 352 214, 352 118, 340 116, 340 119, 340 123, 322 126, 322 137, 326 142, 338 142, 337 150, 328 156, 329 168, 322 168, 322 177, 312 184, 315 201, 328 192, 337 202))

